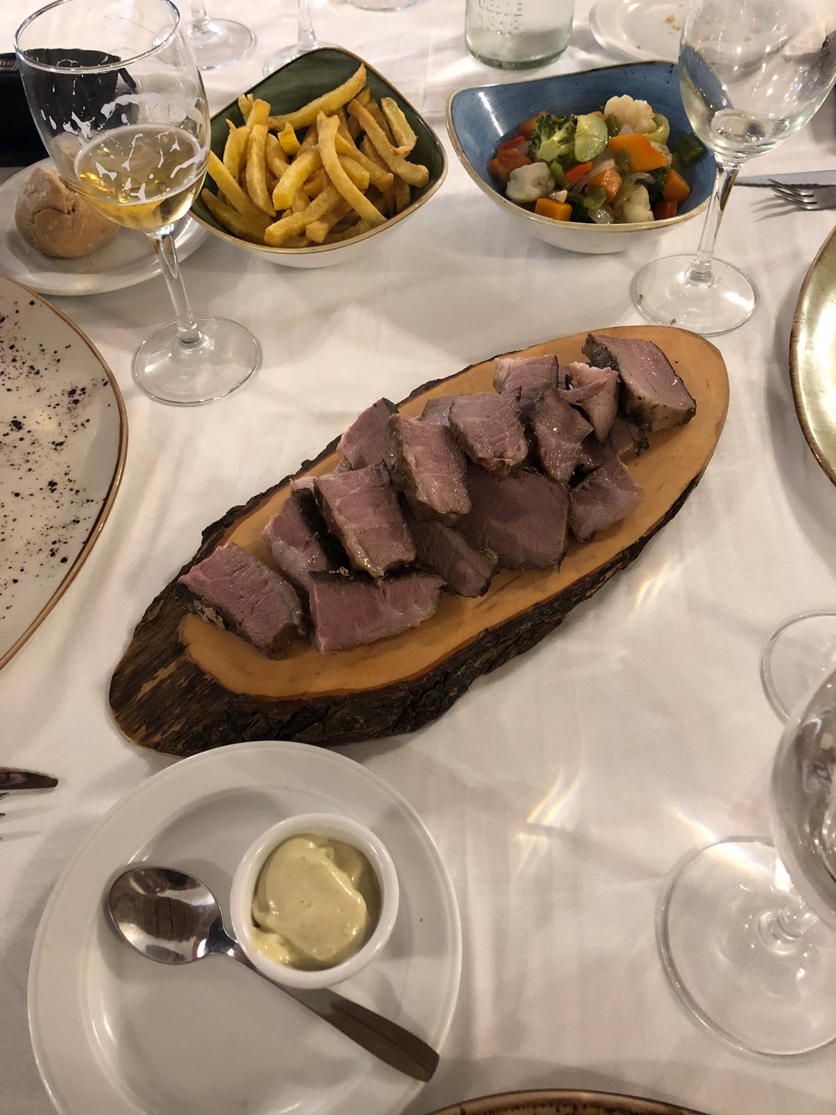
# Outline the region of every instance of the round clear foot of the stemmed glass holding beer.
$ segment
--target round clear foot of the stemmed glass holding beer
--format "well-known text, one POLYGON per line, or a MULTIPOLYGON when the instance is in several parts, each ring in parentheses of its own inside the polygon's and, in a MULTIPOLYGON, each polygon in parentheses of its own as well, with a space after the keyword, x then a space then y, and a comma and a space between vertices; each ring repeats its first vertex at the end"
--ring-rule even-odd
POLYGON ((144 341, 134 356, 135 382, 158 403, 196 407, 231 395, 261 363, 261 345, 227 318, 197 318, 203 340, 179 343, 172 322, 144 341))

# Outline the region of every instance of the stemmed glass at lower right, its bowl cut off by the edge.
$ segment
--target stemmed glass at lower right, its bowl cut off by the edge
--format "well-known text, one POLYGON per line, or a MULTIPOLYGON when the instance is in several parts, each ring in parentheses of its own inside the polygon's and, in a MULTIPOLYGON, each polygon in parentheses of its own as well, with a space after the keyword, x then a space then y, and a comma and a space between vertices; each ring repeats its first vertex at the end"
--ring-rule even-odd
POLYGON ((658 924, 684 1005, 738 1048, 836 1039, 836 673, 790 717, 772 766, 775 846, 720 841, 686 857, 658 924))

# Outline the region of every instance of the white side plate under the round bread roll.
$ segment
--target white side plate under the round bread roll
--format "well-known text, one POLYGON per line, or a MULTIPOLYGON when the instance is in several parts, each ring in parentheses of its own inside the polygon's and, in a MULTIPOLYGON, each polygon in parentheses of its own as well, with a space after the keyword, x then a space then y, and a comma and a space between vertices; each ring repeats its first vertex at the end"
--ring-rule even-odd
MULTIPOLYGON (((48 158, 38 166, 51 166, 48 158)), ((32 173, 27 166, 0 186, 0 271, 40 294, 103 294, 153 279, 161 272, 148 237, 119 229, 101 248, 77 260, 58 260, 30 248, 14 226, 18 194, 32 173)), ((208 232, 184 216, 174 236, 181 262, 204 242, 208 232)))

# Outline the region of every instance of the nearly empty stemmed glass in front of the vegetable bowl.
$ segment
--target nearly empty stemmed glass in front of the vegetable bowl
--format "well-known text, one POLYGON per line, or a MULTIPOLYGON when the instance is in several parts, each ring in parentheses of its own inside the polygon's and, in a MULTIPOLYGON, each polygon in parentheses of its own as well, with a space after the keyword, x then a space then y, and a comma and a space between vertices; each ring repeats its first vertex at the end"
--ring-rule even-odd
POLYGON ((691 125, 717 159, 718 177, 697 255, 670 255, 633 279, 651 321, 722 333, 749 318, 755 288, 715 259, 729 194, 742 164, 803 128, 836 79, 833 0, 689 0, 679 84, 691 125))

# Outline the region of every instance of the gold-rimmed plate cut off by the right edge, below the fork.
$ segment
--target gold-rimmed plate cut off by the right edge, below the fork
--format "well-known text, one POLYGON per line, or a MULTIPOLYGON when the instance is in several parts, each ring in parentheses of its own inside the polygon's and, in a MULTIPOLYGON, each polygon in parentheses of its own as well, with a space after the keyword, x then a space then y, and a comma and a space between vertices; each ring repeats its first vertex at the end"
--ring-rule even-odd
POLYGON ((807 444, 836 484, 836 229, 801 285, 789 339, 789 378, 807 444))

